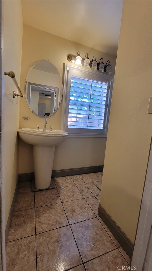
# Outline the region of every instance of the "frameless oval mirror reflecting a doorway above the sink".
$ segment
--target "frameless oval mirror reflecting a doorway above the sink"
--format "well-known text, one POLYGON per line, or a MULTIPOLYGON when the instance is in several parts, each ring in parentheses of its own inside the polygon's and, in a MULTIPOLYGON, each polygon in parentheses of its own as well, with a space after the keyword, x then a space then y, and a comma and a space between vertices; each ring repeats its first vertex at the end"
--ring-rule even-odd
POLYGON ((63 95, 61 76, 48 60, 36 62, 25 81, 25 97, 31 111, 40 118, 52 116, 63 95))

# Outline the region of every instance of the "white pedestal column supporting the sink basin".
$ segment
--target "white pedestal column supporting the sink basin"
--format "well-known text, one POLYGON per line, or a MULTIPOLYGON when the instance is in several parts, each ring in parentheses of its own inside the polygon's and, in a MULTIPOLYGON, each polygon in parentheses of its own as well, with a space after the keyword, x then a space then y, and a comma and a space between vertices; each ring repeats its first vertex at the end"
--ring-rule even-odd
POLYGON ((55 146, 33 145, 35 187, 46 189, 50 186, 55 146))

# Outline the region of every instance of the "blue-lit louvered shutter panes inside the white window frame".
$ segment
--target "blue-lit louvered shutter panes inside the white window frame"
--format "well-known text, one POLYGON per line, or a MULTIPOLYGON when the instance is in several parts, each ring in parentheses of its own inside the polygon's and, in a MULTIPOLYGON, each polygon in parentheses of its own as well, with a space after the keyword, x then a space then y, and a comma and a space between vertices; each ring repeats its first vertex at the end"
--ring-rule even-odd
POLYGON ((106 83, 72 76, 68 128, 104 128, 107 86, 106 83))

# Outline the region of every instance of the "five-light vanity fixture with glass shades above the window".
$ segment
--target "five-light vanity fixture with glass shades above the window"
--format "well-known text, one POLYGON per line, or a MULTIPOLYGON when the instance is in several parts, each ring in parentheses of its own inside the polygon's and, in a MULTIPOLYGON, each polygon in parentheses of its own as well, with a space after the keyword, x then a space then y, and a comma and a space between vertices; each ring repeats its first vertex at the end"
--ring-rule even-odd
POLYGON ((85 58, 83 59, 80 56, 80 51, 77 51, 77 56, 73 56, 72 54, 69 54, 67 56, 67 60, 70 63, 74 63, 78 67, 83 65, 83 68, 85 68, 85 69, 91 68, 91 70, 94 70, 94 71, 98 70, 98 72, 101 72, 101 73, 102 72, 107 72, 108 74, 112 73, 110 60, 108 60, 106 62, 106 65, 104 65, 103 58, 100 59, 101 63, 100 63, 100 61, 99 61, 99 63, 97 63, 96 57, 93 56, 92 61, 90 61, 88 53, 86 53, 85 58))

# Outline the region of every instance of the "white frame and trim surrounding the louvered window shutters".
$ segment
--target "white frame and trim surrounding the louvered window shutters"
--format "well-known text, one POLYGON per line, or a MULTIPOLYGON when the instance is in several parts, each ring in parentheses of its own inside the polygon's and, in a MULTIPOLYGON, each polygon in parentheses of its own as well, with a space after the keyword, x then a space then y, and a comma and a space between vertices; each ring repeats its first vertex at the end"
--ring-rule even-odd
POLYGON ((87 73, 100 78, 107 78, 109 79, 109 95, 107 100, 107 114, 106 114, 106 120, 105 120, 105 129, 104 133, 102 134, 83 134, 83 133, 69 133, 69 137, 107 137, 107 130, 108 130, 108 122, 109 122, 109 115, 110 115, 110 104, 111 104, 111 98, 112 98, 112 88, 113 88, 113 80, 114 77, 110 75, 106 75, 99 72, 93 72, 92 70, 83 69, 83 67, 79 68, 76 66, 65 64, 65 75, 64 75, 64 86, 63 86, 63 99, 62 99, 62 118, 61 118, 61 130, 66 130, 66 124, 65 124, 65 118, 66 118, 66 101, 67 101, 67 89, 70 89, 71 86, 71 74, 72 70, 87 73), (70 77, 70 79, 69 79, 70 77))

